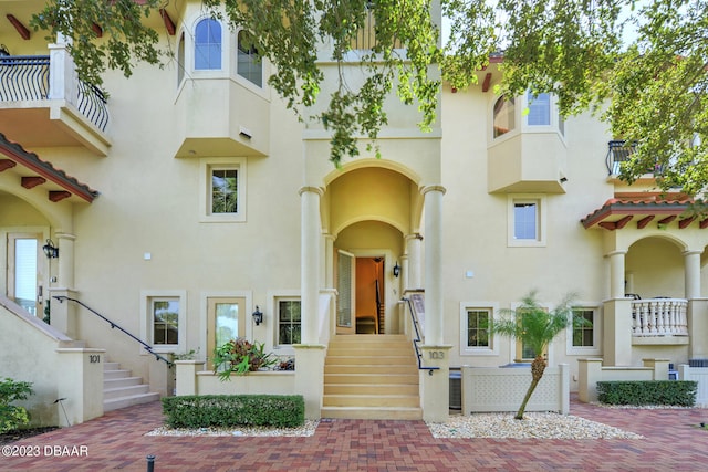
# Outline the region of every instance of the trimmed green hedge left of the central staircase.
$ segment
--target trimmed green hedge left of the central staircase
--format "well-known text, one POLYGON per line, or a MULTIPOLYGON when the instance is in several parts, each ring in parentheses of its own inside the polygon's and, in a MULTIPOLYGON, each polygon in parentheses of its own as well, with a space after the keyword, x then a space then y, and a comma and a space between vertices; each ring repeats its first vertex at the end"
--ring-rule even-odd
POLYGON ((162 401, 169 428, 294 428, 305 422, 301 395, 186 395, 162 401))

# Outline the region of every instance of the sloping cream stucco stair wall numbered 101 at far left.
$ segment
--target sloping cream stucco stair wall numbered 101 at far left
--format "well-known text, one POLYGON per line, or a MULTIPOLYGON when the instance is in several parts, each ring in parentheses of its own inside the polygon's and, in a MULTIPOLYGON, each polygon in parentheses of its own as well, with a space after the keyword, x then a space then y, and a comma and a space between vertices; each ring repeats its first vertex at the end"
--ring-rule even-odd
POLYGON ((0 346, 0 378, 32 382, 34 394, 17 403, 28 409, 31 424, 76 424, 103 415, 103 349, 75 347, 4 297, 0 346))

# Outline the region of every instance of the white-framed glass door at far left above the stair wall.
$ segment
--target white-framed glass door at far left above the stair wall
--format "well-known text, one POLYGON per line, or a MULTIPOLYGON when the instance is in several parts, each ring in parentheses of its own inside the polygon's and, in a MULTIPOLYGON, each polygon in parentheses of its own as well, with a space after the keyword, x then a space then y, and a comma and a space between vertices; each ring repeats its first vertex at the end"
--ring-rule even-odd
POLYGON ((43 316, 41 234, 8 233, 7 294, 29 313, 43 316))

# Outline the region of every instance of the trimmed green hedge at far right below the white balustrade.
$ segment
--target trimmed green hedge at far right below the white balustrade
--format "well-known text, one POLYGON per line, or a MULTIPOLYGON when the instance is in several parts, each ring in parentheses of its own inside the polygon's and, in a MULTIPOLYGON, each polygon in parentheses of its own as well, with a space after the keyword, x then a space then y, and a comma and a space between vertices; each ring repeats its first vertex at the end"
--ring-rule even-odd
POLYGON ((698 382, 693 380, 598 381, 597 400, 608 405, 694 407, 698 382))

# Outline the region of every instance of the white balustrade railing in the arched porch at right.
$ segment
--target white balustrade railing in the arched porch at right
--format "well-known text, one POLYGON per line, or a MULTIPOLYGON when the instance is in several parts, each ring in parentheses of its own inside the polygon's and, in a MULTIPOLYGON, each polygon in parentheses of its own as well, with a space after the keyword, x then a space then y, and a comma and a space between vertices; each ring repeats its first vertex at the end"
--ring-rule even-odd
POLYGON ((688 336, 685 298, 646 298, 632 302, 633 336, 688 336))

